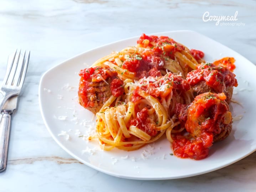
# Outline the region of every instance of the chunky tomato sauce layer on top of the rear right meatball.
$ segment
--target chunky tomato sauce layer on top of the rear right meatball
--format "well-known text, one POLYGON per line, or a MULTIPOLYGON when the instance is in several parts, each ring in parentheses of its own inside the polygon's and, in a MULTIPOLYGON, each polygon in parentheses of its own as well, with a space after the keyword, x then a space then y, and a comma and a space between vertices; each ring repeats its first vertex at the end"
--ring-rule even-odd
POLYGON ((198 84, 200 81, 205 81, 206 84, 221 93, 226 86, 237 87, 235 74, 225 67, 216 66, 212 63, 202 63, 195 70, 189 72, 186 81, 191 86, 198 84))

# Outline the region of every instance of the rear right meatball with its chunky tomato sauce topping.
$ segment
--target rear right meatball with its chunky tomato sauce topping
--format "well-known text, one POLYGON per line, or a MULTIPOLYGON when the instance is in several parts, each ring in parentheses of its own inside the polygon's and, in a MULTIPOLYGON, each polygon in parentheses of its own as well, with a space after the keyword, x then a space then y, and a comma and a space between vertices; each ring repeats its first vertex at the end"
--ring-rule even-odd
POLYGON ((187 74, 186 80, 194 96, 206 92, 225 93, 227 103, 232 98, 233 87, 237 87, 234 73, 225 67, 211 63, 202 63, 197 66, 195 70, 187 74))

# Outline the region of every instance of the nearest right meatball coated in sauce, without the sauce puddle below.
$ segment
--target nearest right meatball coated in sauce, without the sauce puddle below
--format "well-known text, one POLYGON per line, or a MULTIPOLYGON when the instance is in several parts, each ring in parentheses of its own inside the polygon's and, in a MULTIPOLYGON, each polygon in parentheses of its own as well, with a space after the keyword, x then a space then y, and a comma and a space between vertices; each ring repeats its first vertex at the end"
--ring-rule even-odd
POLYGON ((194 138, 207 133, 213 142, 225 139, 232 129, 232 115, 224 93, 203 93, 188 108, 185 128, 194 138))

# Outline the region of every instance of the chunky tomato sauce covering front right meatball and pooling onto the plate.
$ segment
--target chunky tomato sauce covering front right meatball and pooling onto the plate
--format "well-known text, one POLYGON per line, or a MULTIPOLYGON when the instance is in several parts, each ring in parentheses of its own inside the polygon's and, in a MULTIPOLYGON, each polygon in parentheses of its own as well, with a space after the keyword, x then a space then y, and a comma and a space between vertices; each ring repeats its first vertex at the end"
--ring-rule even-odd
POLYGON ((225 99, 224 93, 204 93, 195 98, 188 108, 185 124, 186 131, 195 139, 176 137, 173 142, 176 156, 196 160, 208 156, 214 135, 220 134, 222 128, 231 123, 232 117, 225 99))

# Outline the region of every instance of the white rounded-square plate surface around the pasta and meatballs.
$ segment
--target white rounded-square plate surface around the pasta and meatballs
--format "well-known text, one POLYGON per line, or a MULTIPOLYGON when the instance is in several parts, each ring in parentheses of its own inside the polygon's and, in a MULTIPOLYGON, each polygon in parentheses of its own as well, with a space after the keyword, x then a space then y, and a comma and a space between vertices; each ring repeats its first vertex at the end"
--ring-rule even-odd
POLYGON ((77 102, 80 69, 89 67, 97 59, 126 46, 134 46, 139 37, 118 41, 73 57, 53 67, 41 78, 39 103, 41 114, 53 139, 70 155, 84 164, 109 175, 139 180, 163 180, 199 175, 230 165, 256 150, 255 98, 256 67, 230 48, 193 31, 157 33, 173 38, 189 48, 202 50, 205 60, 230 56, 236 59, 239 86, 233 99, 243 107, 231 103, 233 116, 243 115, 233 123, 231 134, 210 149, 203 160, 179 159, 171 156, 170 143, 165 137, 136 151, 114 149, 102 151, 97 141, 87 142, 83 137, 93 130, 95 118, 77 102), (94 120, 92 120, 94 118, 94 120), (79 131, 81 133, 79 133, 79 131), (58 136, 62 131, 68 135, 58 136), (82 153, 82 150, 85 150, 82 153))

